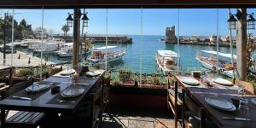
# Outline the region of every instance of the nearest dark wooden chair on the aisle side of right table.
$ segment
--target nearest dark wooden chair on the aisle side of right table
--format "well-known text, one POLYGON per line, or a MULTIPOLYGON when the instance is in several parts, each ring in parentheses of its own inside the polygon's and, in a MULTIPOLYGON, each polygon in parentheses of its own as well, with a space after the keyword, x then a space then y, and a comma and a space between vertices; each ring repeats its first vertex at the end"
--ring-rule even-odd
POLYGON ((204 108, 199 107, 189 96, 183 94, 183 97, 183 104, 189 108, 188 111, 183 110, 183 125, 187 128, 217 128, 212 120, 207 119, 204 108))

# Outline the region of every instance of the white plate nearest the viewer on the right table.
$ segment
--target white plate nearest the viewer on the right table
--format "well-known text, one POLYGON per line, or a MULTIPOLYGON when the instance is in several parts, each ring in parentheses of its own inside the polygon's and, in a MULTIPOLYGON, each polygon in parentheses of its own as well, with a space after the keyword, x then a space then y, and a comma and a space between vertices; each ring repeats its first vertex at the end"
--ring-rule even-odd
POLYGON ((218 96, 207 96, 205 97, 205 101, 210 104, 214 108, 222 109, 224 111, 235 111, 236 106, 225 100, 224 98, 218 96))

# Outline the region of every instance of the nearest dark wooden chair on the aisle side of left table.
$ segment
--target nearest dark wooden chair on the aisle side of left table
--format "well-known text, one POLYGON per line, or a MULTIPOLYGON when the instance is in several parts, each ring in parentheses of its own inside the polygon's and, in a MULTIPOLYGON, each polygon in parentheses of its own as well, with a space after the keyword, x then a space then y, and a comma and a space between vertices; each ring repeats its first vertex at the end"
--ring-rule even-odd
POLYGON ((61 114, 60 127, 96 128, 102 123, 102 87, 93 88, 73 115, 61 114))

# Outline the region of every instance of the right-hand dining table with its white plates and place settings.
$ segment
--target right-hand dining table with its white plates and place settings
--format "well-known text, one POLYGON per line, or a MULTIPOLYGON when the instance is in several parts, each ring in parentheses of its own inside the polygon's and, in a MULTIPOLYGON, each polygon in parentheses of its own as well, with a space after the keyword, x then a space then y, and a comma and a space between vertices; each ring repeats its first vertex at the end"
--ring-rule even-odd
MULTIPOLYGON (((256 96, 247 95, 240 84, 222 78, 174 76, 177 85, 220 128, 253 128, 256 125, 256 96)), ((183 101, 184 103, 184 101, 183 101)), ((184 110, 183 110, 184 111, 184 110)))

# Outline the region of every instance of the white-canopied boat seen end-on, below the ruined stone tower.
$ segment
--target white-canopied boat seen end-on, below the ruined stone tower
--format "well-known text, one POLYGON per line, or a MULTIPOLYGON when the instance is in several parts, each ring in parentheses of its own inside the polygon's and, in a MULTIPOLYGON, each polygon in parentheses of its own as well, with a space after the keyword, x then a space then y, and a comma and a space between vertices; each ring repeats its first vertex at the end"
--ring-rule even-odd
POLYGON ((157 50, 154 59, 160 71, 166 74, 177 71, 178 57, 177 53, 172 50, 157 50))

